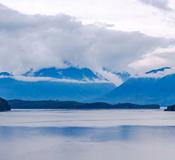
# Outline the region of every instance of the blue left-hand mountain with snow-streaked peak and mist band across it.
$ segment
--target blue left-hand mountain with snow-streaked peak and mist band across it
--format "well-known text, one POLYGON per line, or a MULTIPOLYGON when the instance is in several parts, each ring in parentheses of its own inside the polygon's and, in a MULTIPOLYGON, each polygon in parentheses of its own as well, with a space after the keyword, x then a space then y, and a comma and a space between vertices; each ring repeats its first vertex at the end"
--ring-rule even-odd
POLYGON ((0 95, 7 99, 89 101, 115 88, 88 68, 52 67, 22 75, 0 75, 0 95))

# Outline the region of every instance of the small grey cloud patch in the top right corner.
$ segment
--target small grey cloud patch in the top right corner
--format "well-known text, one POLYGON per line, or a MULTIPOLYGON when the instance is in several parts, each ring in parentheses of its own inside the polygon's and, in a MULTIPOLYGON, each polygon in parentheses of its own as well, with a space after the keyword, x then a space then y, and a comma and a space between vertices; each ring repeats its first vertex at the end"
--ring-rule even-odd
POLYGON ((172 9, 169 7, 168 0, 140 0, 142 3, 151 5, 153 7, 156 7, 158 9, 171 11, 172 9))

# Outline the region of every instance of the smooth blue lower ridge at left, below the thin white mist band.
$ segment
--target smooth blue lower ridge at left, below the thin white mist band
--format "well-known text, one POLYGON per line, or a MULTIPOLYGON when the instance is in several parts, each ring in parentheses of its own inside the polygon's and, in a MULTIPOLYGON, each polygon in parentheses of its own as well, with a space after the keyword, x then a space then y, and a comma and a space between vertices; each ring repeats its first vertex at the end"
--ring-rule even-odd
POLYGON ((114 88, 111 83, 31 82, 0 78, 0 95, 6 99, 87 101, 114 88))

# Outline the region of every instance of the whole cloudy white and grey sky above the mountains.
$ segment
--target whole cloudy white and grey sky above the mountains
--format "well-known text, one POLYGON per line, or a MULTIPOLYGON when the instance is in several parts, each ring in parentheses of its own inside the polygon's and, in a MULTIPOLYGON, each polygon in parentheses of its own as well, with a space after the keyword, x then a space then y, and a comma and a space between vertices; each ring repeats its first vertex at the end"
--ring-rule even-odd
POLYGON ((175 68, 175 0, 0 0, 0 71, 175 68), (7 63, 10 61, 10 63, 7 63))

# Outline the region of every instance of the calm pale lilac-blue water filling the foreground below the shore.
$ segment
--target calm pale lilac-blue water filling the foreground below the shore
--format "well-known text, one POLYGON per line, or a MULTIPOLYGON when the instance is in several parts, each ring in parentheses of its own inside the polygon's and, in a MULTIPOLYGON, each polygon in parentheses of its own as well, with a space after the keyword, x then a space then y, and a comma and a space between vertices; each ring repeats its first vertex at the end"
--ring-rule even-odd
POLYGON ((0 160, 174 160, 175 113, 0 113, 0 160))

